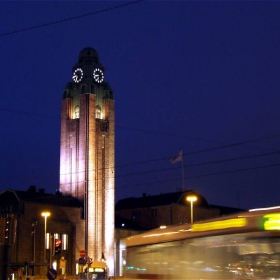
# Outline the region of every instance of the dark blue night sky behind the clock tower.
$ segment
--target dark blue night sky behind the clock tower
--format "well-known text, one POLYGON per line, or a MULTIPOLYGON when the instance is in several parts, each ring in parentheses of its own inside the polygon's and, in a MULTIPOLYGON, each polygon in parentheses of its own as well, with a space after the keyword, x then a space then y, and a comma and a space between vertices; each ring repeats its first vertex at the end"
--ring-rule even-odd
POLYGON ((90 46, 115 95, 116 200, 181 189, 183 150, 209 203, 279 205, 280 2, 124 3, 1 2, 0 189, 58 188, 62 92, 90 46))

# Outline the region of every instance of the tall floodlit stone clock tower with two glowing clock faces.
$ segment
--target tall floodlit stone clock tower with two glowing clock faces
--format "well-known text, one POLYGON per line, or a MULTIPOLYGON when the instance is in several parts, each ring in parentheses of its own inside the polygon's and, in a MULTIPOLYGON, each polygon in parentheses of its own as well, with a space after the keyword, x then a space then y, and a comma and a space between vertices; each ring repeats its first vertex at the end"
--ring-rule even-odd
POLYGON ((60 190, 84 205, 85 227, 77 230, 76 254, 85 250, 94 261, 105 257, 114 271, 114 97, 93 48, 80 52, 63 92, 60 190))

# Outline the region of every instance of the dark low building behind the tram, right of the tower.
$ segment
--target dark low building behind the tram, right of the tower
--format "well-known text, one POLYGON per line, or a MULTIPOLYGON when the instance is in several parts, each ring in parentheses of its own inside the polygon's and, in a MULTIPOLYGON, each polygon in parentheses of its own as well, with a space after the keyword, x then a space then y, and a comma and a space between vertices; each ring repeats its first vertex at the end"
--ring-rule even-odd
POLYGON ((219 209, 212 208, 202 195, 193 190, 121 199, 115 211, 116 216, 133 220, 142 228, 154 229, 162 225, 190 223, 191 210, 196 222, 220 216, 219 209), (190 195, 197 198, 193 209, 187 201, 190 195))

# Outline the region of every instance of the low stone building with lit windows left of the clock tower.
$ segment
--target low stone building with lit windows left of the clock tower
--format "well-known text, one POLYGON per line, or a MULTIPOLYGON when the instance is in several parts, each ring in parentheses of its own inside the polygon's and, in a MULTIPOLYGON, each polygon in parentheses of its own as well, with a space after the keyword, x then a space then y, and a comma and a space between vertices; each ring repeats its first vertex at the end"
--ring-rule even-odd
POLYGON ((78 248, 76 242, 77 238, 84 238, 80 233, 84 228, 81 210, 76 198, 46 194, 33 186, 28 191, 3 191, 0 194, 1 279, 7 279, 11 273, 45 276, 51 266, 59 274, 76 274, 77 256, 84 249, 78 248), (42 216, 46 212, 50 213, 49 217, 42 216))

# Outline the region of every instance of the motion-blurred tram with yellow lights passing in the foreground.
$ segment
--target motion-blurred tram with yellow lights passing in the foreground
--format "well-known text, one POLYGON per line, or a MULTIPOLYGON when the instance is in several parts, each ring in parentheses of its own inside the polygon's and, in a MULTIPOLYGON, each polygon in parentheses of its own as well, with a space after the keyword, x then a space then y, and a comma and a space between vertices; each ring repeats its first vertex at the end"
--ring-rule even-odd
POLYGON ((125 239, 124 279, 280 279, 280 207, 125 239))

